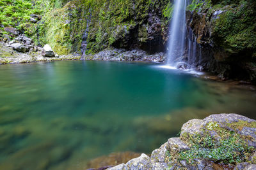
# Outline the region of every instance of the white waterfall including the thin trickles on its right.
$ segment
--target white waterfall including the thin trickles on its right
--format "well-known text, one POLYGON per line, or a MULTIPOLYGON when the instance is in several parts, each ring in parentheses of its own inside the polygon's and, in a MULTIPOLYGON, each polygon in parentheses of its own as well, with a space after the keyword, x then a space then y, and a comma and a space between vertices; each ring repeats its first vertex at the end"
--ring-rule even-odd
MULTIPOLYGON (((188 0, 175 0, 172 20, 170 22, 170 33, 168 41, 168 58, 166 65, 171 67, 179 67, 180 62, 186 62, 186 65, 193 67, 196 62, 196 36, 193 30, 186 29, 186 6, 188 0)), ((198 59, 199 61, 199 59, 198 59)))

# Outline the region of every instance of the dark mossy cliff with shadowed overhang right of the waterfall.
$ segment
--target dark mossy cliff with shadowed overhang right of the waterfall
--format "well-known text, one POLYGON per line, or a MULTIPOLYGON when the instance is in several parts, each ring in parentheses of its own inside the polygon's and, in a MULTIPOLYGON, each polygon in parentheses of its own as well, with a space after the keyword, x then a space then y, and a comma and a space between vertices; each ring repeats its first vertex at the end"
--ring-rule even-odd
POLYGON ((202 50, 198 65, 221 78, 256 81, 256 1, 201 1, 187 24, 202 50))

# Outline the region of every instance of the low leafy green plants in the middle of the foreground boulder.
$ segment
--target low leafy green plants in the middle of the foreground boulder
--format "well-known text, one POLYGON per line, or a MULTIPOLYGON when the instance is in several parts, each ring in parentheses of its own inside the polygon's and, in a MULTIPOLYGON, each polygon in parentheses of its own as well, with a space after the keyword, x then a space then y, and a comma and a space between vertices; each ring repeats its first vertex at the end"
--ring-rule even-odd
POLYGON ((214 139, 210 134, 202 136, 187 136, 191 150, 180 153, 180 160, 194 163, 194 159, 206 159, 224 164, 242 162, 246 154, 253 148, 234 132, 224 131, 221 139, 214 139))

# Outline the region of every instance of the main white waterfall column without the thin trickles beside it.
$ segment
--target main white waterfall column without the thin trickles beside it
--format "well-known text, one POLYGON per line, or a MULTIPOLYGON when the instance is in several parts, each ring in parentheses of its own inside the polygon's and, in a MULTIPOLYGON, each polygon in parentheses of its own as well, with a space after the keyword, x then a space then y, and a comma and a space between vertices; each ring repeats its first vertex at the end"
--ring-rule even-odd
POLYGON ((186 38, 186 0, 175 0, 168 41, 166 64, 175 66, 184 56, 186 38))

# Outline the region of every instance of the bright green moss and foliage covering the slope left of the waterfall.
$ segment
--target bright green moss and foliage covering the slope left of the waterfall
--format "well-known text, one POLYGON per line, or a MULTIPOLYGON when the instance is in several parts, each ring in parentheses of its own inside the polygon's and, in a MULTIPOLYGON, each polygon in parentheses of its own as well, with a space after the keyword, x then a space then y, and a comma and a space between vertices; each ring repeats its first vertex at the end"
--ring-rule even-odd
MULTIPOLYGON (((79 52, 88 20, 87 53, 99 52, 114 43, 125 48, 129 42, 121 40, 138 27, 139 39, 146 42, 148 14, 153 9, 163 11, 170 6, 168 0, 3 0, 0 3, 0 24, 15 27, 38 45, 49 43, 60 54, 79 52), (25 10, 20 6, 25 6, 25 10), (31 23, 32 13, 42 15, 42 20, 31 23)), ((164 11, 164 20, 168 20, 167 14, 170 15, 170 10, 164 11)), ((2 29, 2 34, 7 32, 2 29)))

